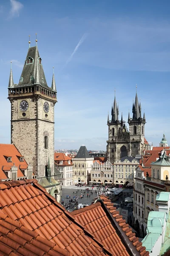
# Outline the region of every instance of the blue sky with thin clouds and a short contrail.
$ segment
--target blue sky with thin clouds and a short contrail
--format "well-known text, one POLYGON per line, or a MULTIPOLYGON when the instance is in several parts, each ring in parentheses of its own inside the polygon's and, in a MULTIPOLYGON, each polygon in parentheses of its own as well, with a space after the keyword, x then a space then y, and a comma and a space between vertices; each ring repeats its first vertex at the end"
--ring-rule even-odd
POLYGON ((152 0, 0 0, 0 143, 10 143, 10 61, 17 83, 37 33, 49 86, 55 67, 56 149, 105 150, 114 88, 127 122, 136 84, 146 139, 159 145, 164 131, 170 144, 169 9, 152 0))

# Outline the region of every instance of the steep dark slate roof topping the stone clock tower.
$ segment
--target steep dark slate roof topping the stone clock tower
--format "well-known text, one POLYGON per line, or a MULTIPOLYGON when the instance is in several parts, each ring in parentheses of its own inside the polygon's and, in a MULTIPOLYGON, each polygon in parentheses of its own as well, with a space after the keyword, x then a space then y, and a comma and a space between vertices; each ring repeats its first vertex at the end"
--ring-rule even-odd
MULTIPOLYGON (((26 85, 41 84, 43 87, 48 87, 47 81, 45 79, 44 70, 41 64, 40 54, 38 52, 37 46, 30 47, 26 56, 26 61, 24 63, 23 71, 18 84, 15 84, 14 87, 22 87, 26 85), (31 63, 27 64, 27 60, 31 59, 31 63), (31 76, 33 78, 31 79, 31 76)), ((52 90, 52 89, 51 89, 52 90)))

